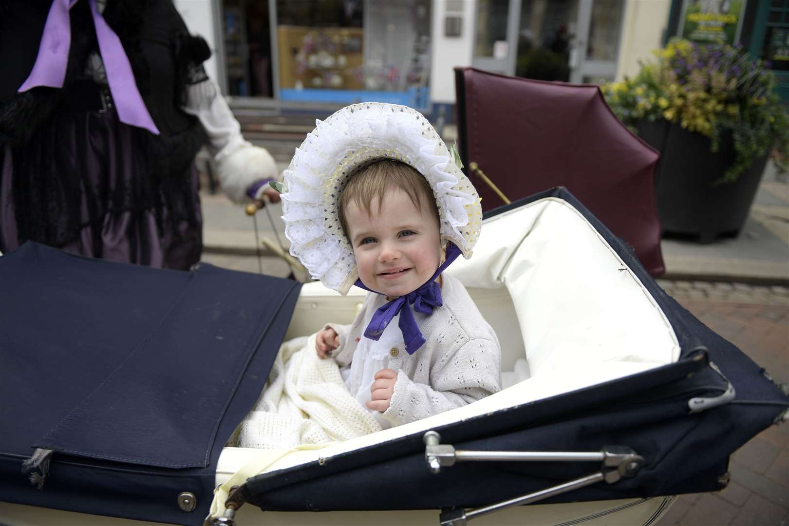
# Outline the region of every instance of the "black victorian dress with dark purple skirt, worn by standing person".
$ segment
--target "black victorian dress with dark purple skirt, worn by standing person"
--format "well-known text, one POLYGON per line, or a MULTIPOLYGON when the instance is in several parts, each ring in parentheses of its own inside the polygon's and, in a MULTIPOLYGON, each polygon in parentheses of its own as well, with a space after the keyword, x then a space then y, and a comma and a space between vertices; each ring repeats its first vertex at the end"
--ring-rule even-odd
POLYGON ((193 159, 206 137, 181 107, 187 90, 208 80, 201 65, 208 45, 189 35, 171 0, 107 2, 103 16, 129 56, 156 136, 118 121, 107 84, 96 80, 87 0, 70 11, 63 88, 17 93, 36 62, 50 4, 0 6, 0 252, 34 240, 85 256, 188 269, 202 250, 193 159))

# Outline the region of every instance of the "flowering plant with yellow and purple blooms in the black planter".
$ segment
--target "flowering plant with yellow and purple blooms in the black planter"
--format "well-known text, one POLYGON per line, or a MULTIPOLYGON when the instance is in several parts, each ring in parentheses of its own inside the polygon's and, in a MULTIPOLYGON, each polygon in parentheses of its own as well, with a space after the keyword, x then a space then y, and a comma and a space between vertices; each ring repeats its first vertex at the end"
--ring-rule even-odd
POLYGON ((736 181, 771 147, 780 169, 787 170, 789 116, 765 62, 752 61, 739 46, 683 39, 654 53, 656 62, 642 63, 638 75, 601 88, 621 121, 633 129, 640 120, 665 119, 708 136, 712 151, 731 132, 735 160, 723 181, 736 181))

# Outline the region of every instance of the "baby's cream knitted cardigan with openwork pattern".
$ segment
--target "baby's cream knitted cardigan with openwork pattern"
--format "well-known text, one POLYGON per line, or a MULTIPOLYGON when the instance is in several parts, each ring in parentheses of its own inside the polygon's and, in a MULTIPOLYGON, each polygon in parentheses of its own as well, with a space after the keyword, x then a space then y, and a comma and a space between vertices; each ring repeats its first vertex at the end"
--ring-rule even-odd
MULTIPOLYGON (((470 404, 501 389, 499 339, 466 287, 447 274, 442 281, 443 306, 419 327, 424 345, 413 355, 398 345, 388 358, 387 368, 398 371, 398 377, 383 417, 395 426, 470 404)), ((386 302, 380 294, 369 293, 352 324, 327 324, 340 338, 331 353, 339 365, 350 364, 357 338, 365 338, 365 320, 386 302)))

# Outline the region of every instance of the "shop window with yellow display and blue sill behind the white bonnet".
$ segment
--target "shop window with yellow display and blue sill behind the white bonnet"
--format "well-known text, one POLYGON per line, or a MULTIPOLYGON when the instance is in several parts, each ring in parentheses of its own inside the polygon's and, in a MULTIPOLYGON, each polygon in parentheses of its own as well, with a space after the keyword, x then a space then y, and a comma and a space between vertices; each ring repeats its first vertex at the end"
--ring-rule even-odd
POLYGON ((429 0, 278 0, 282 99, 424 106, 429 0))

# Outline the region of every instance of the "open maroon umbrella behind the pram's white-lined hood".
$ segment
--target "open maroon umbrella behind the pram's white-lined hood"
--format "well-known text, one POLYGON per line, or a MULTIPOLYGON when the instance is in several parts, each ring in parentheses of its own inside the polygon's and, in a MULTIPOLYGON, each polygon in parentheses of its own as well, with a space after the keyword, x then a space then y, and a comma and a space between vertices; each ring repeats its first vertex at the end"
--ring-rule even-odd
POLYGON ((665 272, 655 203, 659 154, 619 122, 589 84, 528 80, 456 68, 458 145, 482 209, 565 186, 635 248, 653 276, 665 272))

